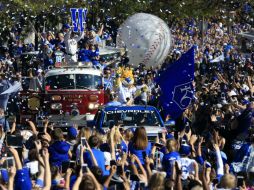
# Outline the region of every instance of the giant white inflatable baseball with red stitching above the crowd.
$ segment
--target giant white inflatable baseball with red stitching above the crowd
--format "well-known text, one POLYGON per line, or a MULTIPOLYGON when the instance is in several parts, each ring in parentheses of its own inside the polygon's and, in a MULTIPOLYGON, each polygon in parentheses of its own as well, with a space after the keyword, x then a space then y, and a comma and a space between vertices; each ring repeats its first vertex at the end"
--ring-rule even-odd
POLYGON ((116 43, 127 49, 130 64, 157 66, 168 55, 171 33, 167 24, 157 16, 137 13, 120 26, 116 43))

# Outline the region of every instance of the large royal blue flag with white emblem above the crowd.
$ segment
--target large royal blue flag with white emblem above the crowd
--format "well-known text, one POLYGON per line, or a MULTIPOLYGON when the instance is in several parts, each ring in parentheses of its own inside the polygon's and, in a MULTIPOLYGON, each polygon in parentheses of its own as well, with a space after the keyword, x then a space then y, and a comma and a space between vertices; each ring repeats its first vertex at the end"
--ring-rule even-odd
POLYGON ((165 116, 179 117, 193 98, 194 47, 183 54, 157 78, 161 88, 160 102, 165 116))

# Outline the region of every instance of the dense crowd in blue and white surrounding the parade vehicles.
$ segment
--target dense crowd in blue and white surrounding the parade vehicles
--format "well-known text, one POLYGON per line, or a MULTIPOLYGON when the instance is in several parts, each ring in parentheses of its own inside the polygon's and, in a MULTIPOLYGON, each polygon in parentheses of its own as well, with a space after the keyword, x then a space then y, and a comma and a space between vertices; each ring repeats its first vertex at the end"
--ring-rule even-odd
POLYGON ((171 125, 149 141, 143 126, 131 131, 116 124, 102 135, 74 125, 65 134, 45 119, 43 132, 35 121, 23 129, 5 115, 18 115, 22 87, 1 94, 1 189, 254 189, 254 53, 243 54, 237 39, 250 26, 234 23, 229 32, 218 18, 208 20, 203 31, 196 19, 171 25, 173 48, 160 68, 132 68, 126 55, 118 67, 107 66, 99 52, 112 39, 103 25, 75 34, 65 24, 60 32, 41 33, 39 64, 25 74, 19 60, 34 45, 24 44, 13 30, 0 54, 1 93, 22 83, 22 75, 36 76, 40 83, 52 66, 91 62, 104 72, 105 91, 111 92, 107 105, 160 108, 156 74, 194 46, 195 95, 175 120, 161 110, 171 125), (9 146, 11 136, 22 137, 22 146, 9 146))

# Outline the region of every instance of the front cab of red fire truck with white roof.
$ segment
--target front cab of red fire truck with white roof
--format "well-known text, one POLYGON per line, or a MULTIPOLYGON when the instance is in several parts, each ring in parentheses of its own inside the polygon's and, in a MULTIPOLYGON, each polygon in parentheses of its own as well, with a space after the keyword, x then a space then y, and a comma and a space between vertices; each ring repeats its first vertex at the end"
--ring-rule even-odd
POLYGON ((45 111, 59 125, 85 125, 104 104, 103 75, 92 67, 63 67, 45 75, 45 111))

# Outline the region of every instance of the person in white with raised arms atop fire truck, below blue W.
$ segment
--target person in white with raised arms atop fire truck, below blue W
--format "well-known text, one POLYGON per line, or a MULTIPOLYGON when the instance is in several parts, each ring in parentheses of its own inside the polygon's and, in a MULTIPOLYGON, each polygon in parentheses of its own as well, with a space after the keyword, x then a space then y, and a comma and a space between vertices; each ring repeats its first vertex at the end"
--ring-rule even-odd
POLYGON ((84 31, 80 33, 79 36, 74 36, 71 29, 68 29, 67 33, 64 36, 64 43, 65 43, 65 61, 67 63, 77 62, 77 50, 78 50, 78 42, 84 38, 84 31))

